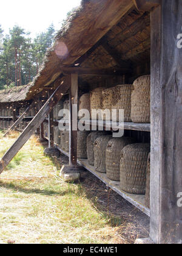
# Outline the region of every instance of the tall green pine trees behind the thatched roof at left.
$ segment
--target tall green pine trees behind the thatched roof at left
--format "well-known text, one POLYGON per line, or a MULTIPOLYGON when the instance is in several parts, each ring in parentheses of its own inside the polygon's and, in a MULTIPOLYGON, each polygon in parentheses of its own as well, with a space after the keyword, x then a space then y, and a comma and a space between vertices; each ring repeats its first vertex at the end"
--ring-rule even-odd
POLYGON ((33 40, 19 26, 10 29, 9 35, 3 35, 0 25, 0 90, 32 81, 47 48, 53 44, 54 35, 53 24, 33 40))

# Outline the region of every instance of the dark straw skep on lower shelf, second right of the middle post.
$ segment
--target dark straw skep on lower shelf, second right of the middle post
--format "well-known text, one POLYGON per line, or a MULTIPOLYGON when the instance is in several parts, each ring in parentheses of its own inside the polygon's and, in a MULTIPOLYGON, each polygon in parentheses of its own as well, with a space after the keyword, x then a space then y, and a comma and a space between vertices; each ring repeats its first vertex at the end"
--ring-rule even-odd
POLYGON ((106 135, 105 132, 90 132, 87 136, 87 158, 89 165, 94 165, 94 143, 96 138, 106 135))

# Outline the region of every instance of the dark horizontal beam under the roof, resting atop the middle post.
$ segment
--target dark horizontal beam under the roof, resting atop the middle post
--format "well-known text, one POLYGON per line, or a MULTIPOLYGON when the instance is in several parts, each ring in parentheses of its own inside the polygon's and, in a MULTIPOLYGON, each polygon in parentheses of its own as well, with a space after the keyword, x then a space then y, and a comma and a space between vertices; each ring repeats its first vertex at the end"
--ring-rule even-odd
POLYGON ((79 74, 82 76, 122 76, 131 73, 129 68, 98 69, 98 68, 61 68, 64 74, 79 74))

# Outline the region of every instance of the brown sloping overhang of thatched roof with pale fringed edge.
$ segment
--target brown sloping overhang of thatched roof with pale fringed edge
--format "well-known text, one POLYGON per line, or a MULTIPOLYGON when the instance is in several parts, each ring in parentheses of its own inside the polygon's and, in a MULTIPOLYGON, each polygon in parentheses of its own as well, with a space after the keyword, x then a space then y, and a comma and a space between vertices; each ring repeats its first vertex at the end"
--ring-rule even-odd
POLYGON ((27 99, 52 84, 62 73, 61 67, 73 65, 133 6, 132 0, 83 0, 56 35, 55 44, 47 51, 27 99))

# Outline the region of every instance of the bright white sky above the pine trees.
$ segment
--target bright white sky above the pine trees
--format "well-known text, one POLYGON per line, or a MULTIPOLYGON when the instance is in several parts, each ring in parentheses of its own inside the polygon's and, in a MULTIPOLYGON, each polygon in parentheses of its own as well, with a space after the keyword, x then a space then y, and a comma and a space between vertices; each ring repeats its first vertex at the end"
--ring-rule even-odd
POLYGON ((2 0, 0 24, 4 34, 8 34, 13 26, 19 25, 35 37, 52 23, 56 30, 60 29, 67 12, 80 2, 81 0, 2 0))

